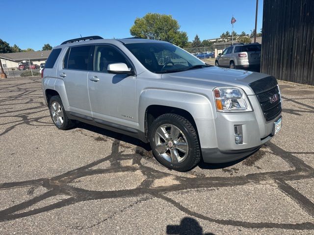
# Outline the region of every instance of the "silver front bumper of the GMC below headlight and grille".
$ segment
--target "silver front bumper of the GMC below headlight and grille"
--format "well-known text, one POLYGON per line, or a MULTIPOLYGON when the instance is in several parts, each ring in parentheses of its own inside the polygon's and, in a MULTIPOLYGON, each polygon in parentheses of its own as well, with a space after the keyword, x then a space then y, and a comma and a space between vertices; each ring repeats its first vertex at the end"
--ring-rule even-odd
POLYGON ((250 101, 255 108, 254 112, 217 113, 214 119, 196 120, 205 163, 226 163, 241 159, 273 138, 274 121, 281 114, 266 122, 256 97, 251 96, 250 101), (242 126, 242 144, 235 143, 235 125, 242 126))

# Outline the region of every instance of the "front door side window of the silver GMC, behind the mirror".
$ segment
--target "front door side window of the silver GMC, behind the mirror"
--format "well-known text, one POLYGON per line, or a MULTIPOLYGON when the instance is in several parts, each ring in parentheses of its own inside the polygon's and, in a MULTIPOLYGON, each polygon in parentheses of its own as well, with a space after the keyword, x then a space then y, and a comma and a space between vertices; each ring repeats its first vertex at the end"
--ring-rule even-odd
POLYGON ((125 63, 131 68, 129 61, 119 50, 110 46, 98 46, 95 53, 95 71, 107 72, 109 64, 125 63))

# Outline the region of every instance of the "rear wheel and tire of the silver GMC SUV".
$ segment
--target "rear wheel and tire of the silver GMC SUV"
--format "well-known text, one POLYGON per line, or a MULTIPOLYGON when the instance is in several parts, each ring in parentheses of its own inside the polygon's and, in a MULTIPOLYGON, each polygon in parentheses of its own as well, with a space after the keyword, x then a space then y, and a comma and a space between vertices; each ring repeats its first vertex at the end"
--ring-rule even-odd
POLYGON ((54 95, 49 100, 49 111, 54 125, 60 130, 68 130, 74 122, 68 118, 59 95, 54 95))

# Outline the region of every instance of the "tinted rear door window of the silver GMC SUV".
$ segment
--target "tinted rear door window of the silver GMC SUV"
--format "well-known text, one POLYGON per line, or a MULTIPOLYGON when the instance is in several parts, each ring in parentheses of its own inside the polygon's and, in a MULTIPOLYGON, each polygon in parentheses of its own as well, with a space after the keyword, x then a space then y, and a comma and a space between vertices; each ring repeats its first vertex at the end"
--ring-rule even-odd
POLYGON ((89 61, 92 55, 92 46, 71 47, 67 69, 90 70, 89 61))

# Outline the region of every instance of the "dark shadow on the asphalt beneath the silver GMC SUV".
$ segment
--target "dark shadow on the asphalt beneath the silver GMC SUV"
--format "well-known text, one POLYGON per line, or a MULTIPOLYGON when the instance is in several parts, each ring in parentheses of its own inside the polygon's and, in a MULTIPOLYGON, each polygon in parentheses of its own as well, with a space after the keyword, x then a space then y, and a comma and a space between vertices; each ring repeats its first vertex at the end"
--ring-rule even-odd
MULTIPOLYGON (((124 142, 130 143, 130 144, 136 145, 136 146, 142 148, 143 150, 150 152, 150 154, 153 155, 150 144, 144 143, 143 141, 140 141, 136 138, 133 138, 133 137, 130 137, 130 136, 127 136, 124 134, 120 134, 120 133, 117 133, 114 131, 109 131, 109 130, 106 130, 104 128, 93 126, 93 125, 86 124, 83 122, 78 122, 76 127, 82 128, 82 129, 85 129, 88 131, 92 131, 92 132, 98 133, 100 135, 104 135, 106 137, 116 139, 118 141, 124 141, 124 142)), ((257 149, 255 152, 257 152, 258 150, 259 149, 257 149)), ((255 152, 253 152, 252 154, 254 154, 255 152)), ((230 167, 230 166, 233 166, 235 164, 242 162, 243 160, 245 160, 246 158, 248 158, 252 154, 245 156, 241 159, 238 159, 236 161, 233 161, 233 162, 221 163, 221 164, 204 163, 203 158, 201 158, 201 162, 197 166, 199 166, 201 169, 223 169, 223 168, 230 167)))

